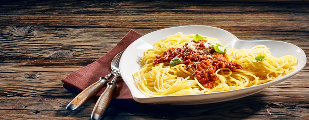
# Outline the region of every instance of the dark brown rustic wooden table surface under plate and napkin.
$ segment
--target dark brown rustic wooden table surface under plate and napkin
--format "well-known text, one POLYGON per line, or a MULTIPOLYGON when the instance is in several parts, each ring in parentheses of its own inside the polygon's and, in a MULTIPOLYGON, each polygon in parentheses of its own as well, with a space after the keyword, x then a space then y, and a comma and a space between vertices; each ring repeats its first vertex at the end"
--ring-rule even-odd
MULTIPOLYGON (((285 41, 309 56, 309 2, 302 0, 1 0, 0 119, 90 119, 61 79, 106 54, 130 29, 208 25, 239 39, 285 41)), ((113 99, 105 119, 309 119, 309 67, 260 93, 192 106, 113 99)))

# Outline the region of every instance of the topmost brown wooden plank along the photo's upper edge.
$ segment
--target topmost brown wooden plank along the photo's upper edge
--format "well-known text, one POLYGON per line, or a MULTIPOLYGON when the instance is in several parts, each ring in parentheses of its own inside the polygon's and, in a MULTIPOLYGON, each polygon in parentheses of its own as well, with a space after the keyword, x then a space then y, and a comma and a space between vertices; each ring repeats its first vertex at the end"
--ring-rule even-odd
POLYGON ((22 23, 27 26, 106 28, 166 28, 203 24, 238 29, 251 26, 254 29, 267 30, 308 30, 306 2, 250 5, 246 2, 203 1, 50 2, 5 2, 6 5, 2 5, 0 10, 0 23, 3 25, 21 25, 22 23), (25 8, 24 4, 29 5, 25 8))

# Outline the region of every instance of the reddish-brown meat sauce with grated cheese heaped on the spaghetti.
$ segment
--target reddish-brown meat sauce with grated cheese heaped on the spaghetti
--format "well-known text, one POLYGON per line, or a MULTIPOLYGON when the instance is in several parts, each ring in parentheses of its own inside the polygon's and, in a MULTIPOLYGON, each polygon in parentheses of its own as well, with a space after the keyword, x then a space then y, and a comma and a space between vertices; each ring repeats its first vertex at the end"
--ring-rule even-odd
POLYGON ((152 64, 170 62, 175 57, 183 60, 179 64, 187 65, 185 70, 195 68, 192 75, 196 77, 201 85, 210 89, 214 88, 215 81, 218 80, 218 76, 215 74, 217 69, 229 68, 232 71, 242 69, 242 66, 238 63, 227 61, 224 54, 216 52, 214 46, 206 43, 205 40, 197 43, 190 41, 181 48, 169 48, 164 51, 163 56, 156 56, 152 64))

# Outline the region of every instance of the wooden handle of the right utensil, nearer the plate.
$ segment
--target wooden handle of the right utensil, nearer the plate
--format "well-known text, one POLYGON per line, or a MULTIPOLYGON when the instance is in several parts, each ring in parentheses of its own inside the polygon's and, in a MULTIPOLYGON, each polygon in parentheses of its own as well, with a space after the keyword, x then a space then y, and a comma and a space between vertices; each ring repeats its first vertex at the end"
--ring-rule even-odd
POLYGON ((107 88, 101 94, 98 101, 96 102, 94 109, 91 114, 91 119, 101 119, 104 112, 107 110, 109 103, 112 99, 116 84, 108 83, 107 88))

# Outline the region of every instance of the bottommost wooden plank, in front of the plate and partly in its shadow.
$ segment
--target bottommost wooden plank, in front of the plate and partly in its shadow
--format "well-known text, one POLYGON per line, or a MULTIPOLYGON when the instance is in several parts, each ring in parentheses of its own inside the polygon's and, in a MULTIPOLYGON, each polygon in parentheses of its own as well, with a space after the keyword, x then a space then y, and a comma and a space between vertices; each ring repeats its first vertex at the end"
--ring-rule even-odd
MULTIPOLYGON (((0 98, 0 101, 2 101, 2 105, 0 106, 2 112, 0 115, 17 119, 32 119, 37 117, 44 119, 74 119, 74 116, 87 119, 90 118, 93 105, 95 104, 94 100, 91 99, 76 111, 66 111, 65 106, 69 101, 63 98, 11 97, 0 98), (10 104, 12 101, 16 104, 10 104)), ((263 102, 259 101, 259 99, 248 100, 247 98, 229 102, 191 106, 140 104, 131 100, 114 99, 106 113, 106 119, 200 119, 205 117, 219 119, 303 119, 308 117, 308 107, 309 104, 307 103, 263 102), (188 109, 194 109, 194 112, 188 109)))

